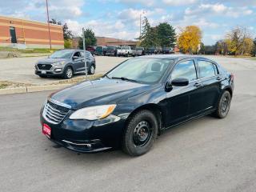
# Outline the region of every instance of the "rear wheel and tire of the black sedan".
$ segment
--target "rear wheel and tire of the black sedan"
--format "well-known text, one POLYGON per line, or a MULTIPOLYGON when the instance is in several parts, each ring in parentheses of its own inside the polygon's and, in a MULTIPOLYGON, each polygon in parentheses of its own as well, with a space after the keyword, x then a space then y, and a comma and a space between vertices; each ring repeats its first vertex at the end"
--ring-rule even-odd
POLYGON ((226 118, 226 115, 230 111, 231 95, 230 92, 225 90, 222 97, 218 101, 217 110, 215 111, 215 116, 217 118, 226 118))

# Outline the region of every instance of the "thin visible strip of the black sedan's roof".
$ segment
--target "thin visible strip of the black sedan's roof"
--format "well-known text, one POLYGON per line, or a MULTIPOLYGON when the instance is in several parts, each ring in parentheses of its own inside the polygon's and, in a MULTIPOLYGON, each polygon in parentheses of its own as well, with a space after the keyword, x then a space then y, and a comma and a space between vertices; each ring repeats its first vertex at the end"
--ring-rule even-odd
POLYGON ((200 55, 191 55, 191 54, 154 54, 154 55, 144 55, 138 58, 165 58, 165 59, 174 59, 182 60, 186 58, 201 58, 211 61, 209 58, 204 58, 200 55))

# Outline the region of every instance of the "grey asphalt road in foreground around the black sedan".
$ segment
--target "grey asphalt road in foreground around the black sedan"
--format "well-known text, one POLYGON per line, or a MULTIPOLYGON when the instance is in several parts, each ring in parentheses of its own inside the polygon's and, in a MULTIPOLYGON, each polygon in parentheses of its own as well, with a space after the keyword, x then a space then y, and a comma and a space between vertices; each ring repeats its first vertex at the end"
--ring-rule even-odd
POLYGON ((56 148, 41 134, 38 118, 50 92, 0 96, 0 191, 254 192, 256 67, 228 68, 235 94, 227 118, 174 127, 138 158, 56 148))

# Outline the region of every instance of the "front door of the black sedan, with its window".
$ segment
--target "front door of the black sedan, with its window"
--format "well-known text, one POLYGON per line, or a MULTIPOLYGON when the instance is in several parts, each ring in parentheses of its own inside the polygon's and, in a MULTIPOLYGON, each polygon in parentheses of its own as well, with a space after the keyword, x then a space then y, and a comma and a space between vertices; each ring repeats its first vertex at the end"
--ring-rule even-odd
POLYGON ((187 78, 189 80, 189 85, 173 86, 173 89, 166 93, 168 102, 167 126, 173 126, 188 118, 190 95, 194 93, 194 90, 198 89, 197 86, 194 86, 198 81, 194 60, 185 60, 176 64, 174 70, 171 72, 170 79, 173 80, 174 78, 187 78))

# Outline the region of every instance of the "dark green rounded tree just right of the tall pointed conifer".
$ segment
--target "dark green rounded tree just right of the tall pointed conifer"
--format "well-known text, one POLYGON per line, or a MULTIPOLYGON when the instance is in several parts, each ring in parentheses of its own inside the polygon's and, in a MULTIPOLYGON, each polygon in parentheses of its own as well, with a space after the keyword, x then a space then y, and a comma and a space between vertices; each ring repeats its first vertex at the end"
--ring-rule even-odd
POLYGON ((176 42, 176 33, 173 26, 167 22, 162 22, 156 26, 157 38, 160 46, 163 47, 174 47, 176 42))

